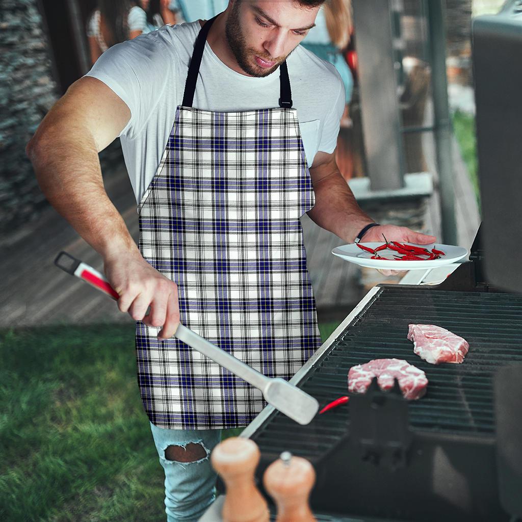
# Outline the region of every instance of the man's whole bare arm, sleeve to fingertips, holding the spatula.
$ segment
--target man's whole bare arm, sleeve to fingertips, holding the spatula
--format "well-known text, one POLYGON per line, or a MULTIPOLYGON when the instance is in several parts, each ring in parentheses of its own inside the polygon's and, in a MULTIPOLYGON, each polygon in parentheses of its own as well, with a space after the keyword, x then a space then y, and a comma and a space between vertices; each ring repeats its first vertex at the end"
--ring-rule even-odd
POLYGON ((101 175, 98 152, 130 117, 127 105, 103 82, 80 78, 45 116, 27 155, 51 205, 103 257, 105 275, 120 294, 120 310, 150 326, 163 325, 160 336, 169 338, 179 322, 177 287, 143 259, 101 175))

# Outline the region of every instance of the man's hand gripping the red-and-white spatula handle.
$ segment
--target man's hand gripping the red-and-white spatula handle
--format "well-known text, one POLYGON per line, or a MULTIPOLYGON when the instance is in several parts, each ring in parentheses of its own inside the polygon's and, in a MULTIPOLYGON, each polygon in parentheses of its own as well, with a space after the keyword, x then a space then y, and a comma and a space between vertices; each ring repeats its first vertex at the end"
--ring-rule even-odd
POLYGON ((147 326, 162 326, 158 339, 170 339, 176 333, 180 306, 175 282, 149 265, 139 252, 112 254, 105 257, 103 267, 112 288, 120 295, 120 311, 147 326))

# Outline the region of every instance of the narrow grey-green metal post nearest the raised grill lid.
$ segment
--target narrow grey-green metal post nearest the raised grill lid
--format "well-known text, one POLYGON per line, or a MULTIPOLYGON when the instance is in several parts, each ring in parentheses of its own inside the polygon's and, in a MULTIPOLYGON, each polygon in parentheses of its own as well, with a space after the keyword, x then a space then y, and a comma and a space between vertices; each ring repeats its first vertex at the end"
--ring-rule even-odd
POLYGON ((444 2, 427 0, 429 52, 432 70, 433 112, 437 170, 441 189, 442 241, 458 244, 452 168, 452 123, 449 117, 446 79, 446 31, 444 2))

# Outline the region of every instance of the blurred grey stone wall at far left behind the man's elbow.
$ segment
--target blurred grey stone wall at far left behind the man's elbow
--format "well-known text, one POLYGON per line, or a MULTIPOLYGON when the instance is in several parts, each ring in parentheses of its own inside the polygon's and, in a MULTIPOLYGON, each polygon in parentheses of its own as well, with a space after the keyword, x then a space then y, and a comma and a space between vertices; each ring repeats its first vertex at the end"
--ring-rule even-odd
POLYGON ((36 0, 0 0, 0 234, 38 218, 46 201, 25 146, 57 99, 36 0))

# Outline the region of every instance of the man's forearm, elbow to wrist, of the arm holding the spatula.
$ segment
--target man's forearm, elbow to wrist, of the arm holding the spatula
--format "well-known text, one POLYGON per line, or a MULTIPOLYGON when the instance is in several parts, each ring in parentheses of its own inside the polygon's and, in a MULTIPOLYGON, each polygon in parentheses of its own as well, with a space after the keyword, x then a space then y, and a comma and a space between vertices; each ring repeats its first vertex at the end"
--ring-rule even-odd
POLYGON ((104 259, 135 253, 136 243, 105 192, 94 140, 69 131, 64 137, 58 129, 50 129, 28 144, 42 192, 104 259))

